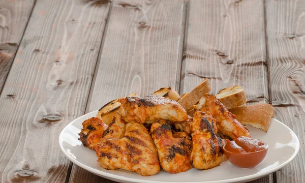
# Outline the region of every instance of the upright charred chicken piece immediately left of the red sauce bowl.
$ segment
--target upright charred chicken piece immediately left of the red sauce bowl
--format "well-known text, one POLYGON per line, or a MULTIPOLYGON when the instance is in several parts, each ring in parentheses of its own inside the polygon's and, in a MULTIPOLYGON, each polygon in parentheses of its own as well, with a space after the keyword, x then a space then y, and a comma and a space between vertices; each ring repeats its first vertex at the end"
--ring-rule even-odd
POLYGON ((194 114, 191 123, 193 138, 191 161, 193 166, 199 170, 214 168, 226 161, 223 146, 229 140, 221 139, 216 135, 215 122, 216 120, 211 115, 204 112, 197 111, 194 114))

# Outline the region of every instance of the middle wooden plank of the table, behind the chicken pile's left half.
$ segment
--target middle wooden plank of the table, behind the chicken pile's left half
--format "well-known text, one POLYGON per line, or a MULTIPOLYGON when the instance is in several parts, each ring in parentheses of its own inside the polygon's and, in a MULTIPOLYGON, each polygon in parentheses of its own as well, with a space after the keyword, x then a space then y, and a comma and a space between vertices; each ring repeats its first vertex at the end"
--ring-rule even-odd
MULTIPOLYGON (((114 1, 87 112, 136 92, 178 89, 186 2, 114 1)), ((73 165, 70 182, 105 182, 73 165)))

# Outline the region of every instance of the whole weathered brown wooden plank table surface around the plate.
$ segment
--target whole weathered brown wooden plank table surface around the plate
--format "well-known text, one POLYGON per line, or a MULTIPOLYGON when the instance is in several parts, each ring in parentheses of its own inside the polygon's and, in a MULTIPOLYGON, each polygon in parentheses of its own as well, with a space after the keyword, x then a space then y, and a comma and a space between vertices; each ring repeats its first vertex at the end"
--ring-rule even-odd
POLYGON ((300 140, 254 182, 305 182, 304 1, 0 1, 0 182, 113 182, 69 162, 60 131, 112 99, 203 78, 272 104, 300 140))

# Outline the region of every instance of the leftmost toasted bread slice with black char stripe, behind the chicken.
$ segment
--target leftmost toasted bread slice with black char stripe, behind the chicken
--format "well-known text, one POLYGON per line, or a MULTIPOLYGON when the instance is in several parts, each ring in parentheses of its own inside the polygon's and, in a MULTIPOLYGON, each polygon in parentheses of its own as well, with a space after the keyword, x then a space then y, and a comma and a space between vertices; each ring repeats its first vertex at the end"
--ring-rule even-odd
MULTIPOLYGON (((137 97, 136 93, 132 93, 127 97, 137 97)), ((106 125, 109 125, 113 119, 114 114, 120 107, 120 103, 117 102, 118 99, 108 102, 105 104, 98 112, 97 117, 102 119, 106 125)))

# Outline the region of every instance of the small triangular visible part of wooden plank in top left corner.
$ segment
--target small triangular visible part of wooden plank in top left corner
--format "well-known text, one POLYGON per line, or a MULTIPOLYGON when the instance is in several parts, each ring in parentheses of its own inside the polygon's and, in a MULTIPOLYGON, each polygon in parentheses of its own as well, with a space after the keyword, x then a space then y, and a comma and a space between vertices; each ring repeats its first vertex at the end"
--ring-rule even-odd
POLYGON ((0 94, 35 0, 0 1, 0 94))

